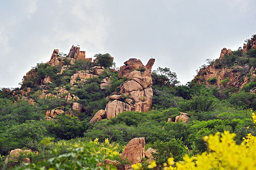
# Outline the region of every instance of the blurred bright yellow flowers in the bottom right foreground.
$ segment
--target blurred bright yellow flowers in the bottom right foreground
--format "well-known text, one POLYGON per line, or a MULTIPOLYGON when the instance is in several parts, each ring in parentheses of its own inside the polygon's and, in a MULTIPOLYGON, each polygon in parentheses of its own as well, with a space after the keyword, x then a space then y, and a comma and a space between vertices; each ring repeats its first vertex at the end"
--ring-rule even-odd
POLYGON ((183 162, 174 164, 173 158, 165 163, 164 170, 173 169, 255 169, 256 168, 256 137, 248 134, 241 145, 233 140, 234 133, 225 131, 203 138, 209 145, 209 151, 201 155, 189 157, 185 155, 183 162))

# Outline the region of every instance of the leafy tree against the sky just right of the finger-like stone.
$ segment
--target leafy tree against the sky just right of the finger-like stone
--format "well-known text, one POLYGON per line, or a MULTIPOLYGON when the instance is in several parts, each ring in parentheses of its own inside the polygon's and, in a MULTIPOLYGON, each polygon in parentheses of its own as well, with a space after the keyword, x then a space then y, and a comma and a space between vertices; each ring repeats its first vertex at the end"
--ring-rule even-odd
POLYGON ((177 74, 175 72, 171 72, 167 67, 164 69, 158 67, 158 69, 154 70, 152 72, 152 79, 154 84, 175 86, 179 83, 177 80, 177 74))

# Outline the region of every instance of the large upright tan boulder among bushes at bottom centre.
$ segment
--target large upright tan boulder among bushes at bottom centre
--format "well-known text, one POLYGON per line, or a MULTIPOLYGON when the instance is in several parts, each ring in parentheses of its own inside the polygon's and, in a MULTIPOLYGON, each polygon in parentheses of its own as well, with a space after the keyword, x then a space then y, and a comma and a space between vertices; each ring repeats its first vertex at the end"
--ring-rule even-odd
POLYGON ((145 158, 145 145, 145 138, 133 138, 125 147, 121 159, 131 164, 140 163, 141 158, 145 158))

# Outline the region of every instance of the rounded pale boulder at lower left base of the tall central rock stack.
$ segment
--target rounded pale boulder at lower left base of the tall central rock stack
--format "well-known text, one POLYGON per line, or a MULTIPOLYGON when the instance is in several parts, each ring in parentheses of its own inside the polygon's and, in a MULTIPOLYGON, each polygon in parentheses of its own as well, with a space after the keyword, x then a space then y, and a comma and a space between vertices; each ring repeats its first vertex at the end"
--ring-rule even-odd
POLYGON ((131 106, 129 104, 124 103, 123 101, 114 100, 109 101, 105 108, 107 119, 110 120, 112 117, 116 117, 118 113, 122 113, 125 111, 131 111, 131 106))

